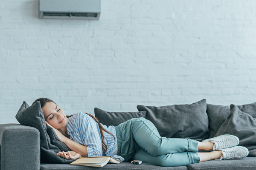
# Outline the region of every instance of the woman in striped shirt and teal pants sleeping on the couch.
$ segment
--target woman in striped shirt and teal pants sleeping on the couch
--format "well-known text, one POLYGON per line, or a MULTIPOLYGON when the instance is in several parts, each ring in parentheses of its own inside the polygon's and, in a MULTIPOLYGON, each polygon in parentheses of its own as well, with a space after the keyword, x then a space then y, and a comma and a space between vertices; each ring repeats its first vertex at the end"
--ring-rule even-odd
POLYGON ((221 135, 203 142, 167 139, 161 137, 153 123, 145 118, 133 118, 118 126, 107 127, 87 113, 66 116, 51 99, 37 101, 41 103, 47 125, 71 149, 56 153, 65 159, 112 156, 119 161, 132 159, 144 164, 173 167, 214 159, 243 159, 249 153, 246 147, 237 146, 239 139, 233 135, 221 135), (198 150, 212 151, 201 153, 198 150))

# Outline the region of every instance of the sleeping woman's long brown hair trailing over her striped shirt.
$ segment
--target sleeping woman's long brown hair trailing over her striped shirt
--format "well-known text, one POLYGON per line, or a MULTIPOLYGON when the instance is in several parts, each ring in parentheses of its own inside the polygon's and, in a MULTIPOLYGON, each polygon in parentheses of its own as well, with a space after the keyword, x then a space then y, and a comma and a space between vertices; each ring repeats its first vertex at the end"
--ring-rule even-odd
MULTIPOLYGON (((41 108, 43 108, 47 102, 53 102, 51 99, 47 99, 47 98, 39 98, 39 99, 36 99, 35 102, 39 101, 40 102, 40 105, 41 105, 41 108)), ((32 105, 35 103, 33 102, 32 105)), ((55 102, 53 102, 55 103, 55 102)), ((56 104, 56 103, 55 103, 56 104)), ((100 136, 101 136, 101 139, 102 139, 102 151, 103 151, 103 154, 106 153, 107 149, 108 149, 108 139, 104 136, 103 134, 103 131, 105 131, 106 133, 110 134, 111 136, 113 136, 113 138, 115 139, 115 136, 110 133, 108 130, 105 130, 105 128, 99 123, 98 119, 96 117, 94 117, 93 115, 89 114, 89 113, 85 113, 87 115, 89 115, 90 117, 93 118, 93 120, 95 120, 95 122, 98 123, 98 126, 99 126, 99 131, 100 131, 100 136), (107 140, 107 144, 104 142, 104 138, 107 140)), ((67 116, 67 115, 66 115, 67 116)), ((70 116, 67 116, 67 118, 71 117, 73 115, 70 115, 70 116)), ((116 142, 116 139, 115 139, 115 142, 116 142)))

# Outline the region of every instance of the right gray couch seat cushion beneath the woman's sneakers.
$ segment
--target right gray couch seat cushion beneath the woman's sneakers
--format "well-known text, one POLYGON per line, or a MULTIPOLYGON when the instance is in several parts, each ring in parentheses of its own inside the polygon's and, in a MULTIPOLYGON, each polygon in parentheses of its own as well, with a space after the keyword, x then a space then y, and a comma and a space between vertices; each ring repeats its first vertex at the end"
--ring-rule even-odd
POLYGON ((246 157, 244 159, 211 160, 189 164, 189 170, 255 170, 256 158, 246 157))

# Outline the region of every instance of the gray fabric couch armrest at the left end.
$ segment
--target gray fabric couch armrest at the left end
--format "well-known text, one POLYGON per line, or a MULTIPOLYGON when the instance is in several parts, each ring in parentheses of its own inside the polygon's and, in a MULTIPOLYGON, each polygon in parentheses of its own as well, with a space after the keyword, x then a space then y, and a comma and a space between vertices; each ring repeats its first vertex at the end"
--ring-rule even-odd
POLYGON ((40 133, 20 124, 0 125, 1 170, 40 170, 40 133))

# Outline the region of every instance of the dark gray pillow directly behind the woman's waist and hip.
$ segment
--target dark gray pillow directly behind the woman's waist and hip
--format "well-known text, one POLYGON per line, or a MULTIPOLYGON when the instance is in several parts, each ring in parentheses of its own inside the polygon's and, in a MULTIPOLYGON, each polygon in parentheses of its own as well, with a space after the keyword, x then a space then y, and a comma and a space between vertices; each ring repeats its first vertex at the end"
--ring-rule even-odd
POLYGON ((94 108, 95 117, 100 123, 106 126, 117 126, 132 118, 146 117, 146 111, 140 112, 108 112, 99 108, 94 108))

